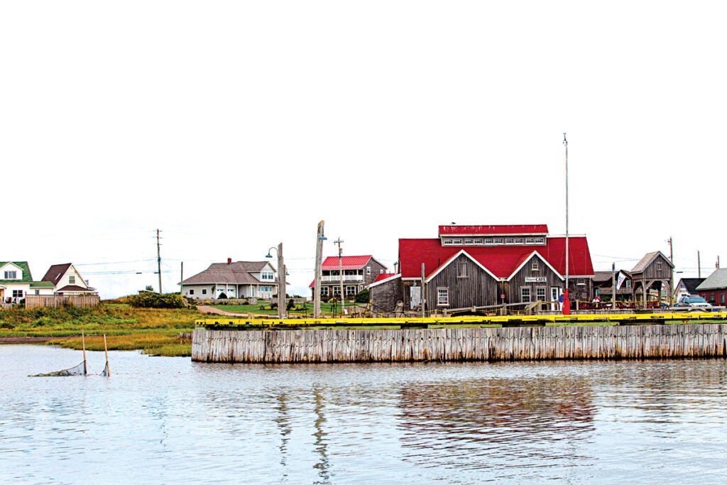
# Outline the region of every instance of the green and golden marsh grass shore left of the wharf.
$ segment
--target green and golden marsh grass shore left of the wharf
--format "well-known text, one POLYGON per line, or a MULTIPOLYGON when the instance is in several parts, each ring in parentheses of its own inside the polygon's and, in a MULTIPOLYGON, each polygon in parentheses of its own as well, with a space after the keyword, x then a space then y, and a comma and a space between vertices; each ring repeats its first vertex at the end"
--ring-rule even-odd
POLYGON ((197 310, 131 308, 103 304, 97 308, 10 308, 0 310, 0 340, 44 342, 81 348, 81 329, 88 350, 142 350, 158 356, 190 356, 192 344, 180 334, 190 334, 197 310))

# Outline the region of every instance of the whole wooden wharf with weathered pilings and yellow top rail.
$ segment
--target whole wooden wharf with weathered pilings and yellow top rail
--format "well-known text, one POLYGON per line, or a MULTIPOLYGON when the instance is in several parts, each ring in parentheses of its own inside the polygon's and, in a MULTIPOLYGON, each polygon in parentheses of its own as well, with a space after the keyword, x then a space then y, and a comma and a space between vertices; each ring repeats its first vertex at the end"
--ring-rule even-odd
POLYGON ((699 323, 725 319, 725 312, 315 321, 220 318, 196 322, 192 360, 302 363, 727 357, 727 324, 699 323), (584 325, 587 322, 598 323, 584 325))

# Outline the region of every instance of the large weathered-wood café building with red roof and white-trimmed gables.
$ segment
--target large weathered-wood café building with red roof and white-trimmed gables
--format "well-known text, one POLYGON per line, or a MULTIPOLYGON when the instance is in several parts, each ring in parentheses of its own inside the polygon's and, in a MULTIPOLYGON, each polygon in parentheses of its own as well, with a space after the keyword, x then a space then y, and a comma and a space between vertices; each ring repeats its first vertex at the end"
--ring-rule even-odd
POLYGON ((566 274, 571 300, 590 300, 593 263, 585 236, 550 236, 545 224, 441 225, 437 238, 399 239, 398 273, 369 285, 378 311, 515 305, 558 310, 566 274))

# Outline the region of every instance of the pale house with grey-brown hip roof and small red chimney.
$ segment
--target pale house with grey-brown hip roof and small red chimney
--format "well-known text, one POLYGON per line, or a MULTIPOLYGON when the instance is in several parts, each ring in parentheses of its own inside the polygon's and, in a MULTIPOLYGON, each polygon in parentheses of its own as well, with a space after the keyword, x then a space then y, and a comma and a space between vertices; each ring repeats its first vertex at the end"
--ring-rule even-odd
POLYGON ((272 298, 278 294, 276 270, 267 261, 214 262, 209 268, 180 283, 182 295, 204 300, 218 298, 272 298))

